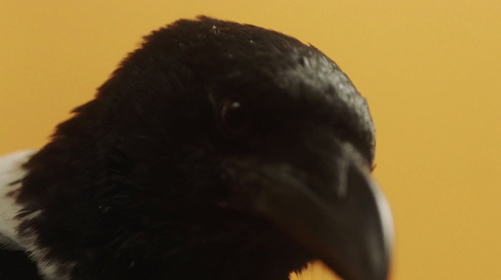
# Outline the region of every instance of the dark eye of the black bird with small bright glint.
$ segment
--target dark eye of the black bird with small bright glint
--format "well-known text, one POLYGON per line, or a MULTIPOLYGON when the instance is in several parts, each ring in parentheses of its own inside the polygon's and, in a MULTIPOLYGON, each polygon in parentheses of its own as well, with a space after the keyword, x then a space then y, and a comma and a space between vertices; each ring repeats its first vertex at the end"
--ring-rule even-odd
POLYGON ((242 134, 246 130, 248 112, 246 104, 239 98, 225 99, 220 112, 221 125, 225 133, 242 134))

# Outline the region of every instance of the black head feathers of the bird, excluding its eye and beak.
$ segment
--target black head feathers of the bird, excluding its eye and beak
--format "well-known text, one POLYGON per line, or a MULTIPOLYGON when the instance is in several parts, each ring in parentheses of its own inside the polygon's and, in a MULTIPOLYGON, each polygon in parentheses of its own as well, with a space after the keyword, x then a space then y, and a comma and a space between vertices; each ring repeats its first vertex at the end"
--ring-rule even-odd
POLYGON ((74 112, 25 165, 17 199, 20 216, 42 210, 20 232, 36 230, 47 260, 71 263, 54 275, 77 280, 285 280, 317 256, 259 214, 221 206, 227 159, 285 159, 337 182, 329 159, 310 156, 337 153, 322 135, 367 168, 374 157, 366 101, 322 52, 205 17, 145 37, 74 112), (226 100, 245 106, 239 130, 221 123, 226 100))

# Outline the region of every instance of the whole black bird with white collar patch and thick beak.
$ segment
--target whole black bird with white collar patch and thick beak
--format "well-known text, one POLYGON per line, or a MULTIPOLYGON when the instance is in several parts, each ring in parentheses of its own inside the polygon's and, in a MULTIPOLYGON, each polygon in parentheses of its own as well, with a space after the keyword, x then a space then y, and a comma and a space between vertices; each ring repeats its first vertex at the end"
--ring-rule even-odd
POLYGON ((322 51, 180 19, 48 144, 0 158, 0 275, 286 280, 321 260, 385 280, 393 221, 374 154, 366 98, 322 51))

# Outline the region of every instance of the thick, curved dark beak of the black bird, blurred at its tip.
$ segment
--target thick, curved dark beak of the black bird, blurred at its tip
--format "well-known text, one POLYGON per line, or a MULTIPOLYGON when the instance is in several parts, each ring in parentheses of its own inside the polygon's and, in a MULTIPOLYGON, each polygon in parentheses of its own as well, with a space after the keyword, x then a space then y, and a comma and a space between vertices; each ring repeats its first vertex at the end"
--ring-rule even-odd
POLYGON ((325 181, 322 191, 290 164, 231 161, 238 186, 232 204, 266 216, 346 280, 385 280, 393 241, 389 205, 369 168, 336 160, 346 165, 336 165, 338 179, 325 181))

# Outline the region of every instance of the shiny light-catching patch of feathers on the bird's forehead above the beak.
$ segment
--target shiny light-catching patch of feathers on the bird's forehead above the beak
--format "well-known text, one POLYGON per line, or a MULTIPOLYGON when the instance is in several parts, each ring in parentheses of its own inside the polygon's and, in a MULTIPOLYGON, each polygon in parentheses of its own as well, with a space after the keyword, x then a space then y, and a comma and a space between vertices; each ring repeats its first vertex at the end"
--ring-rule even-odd
POLYGON ((278 72, 277 84, 296 100, 315 104, 311 109, 327 111, 324 115, 333 122, 342 120, 365 139, 373 154, 375 130, 367 100, 348 76, 323 54, 300 55, 296 60, 299 63, 278 72))

